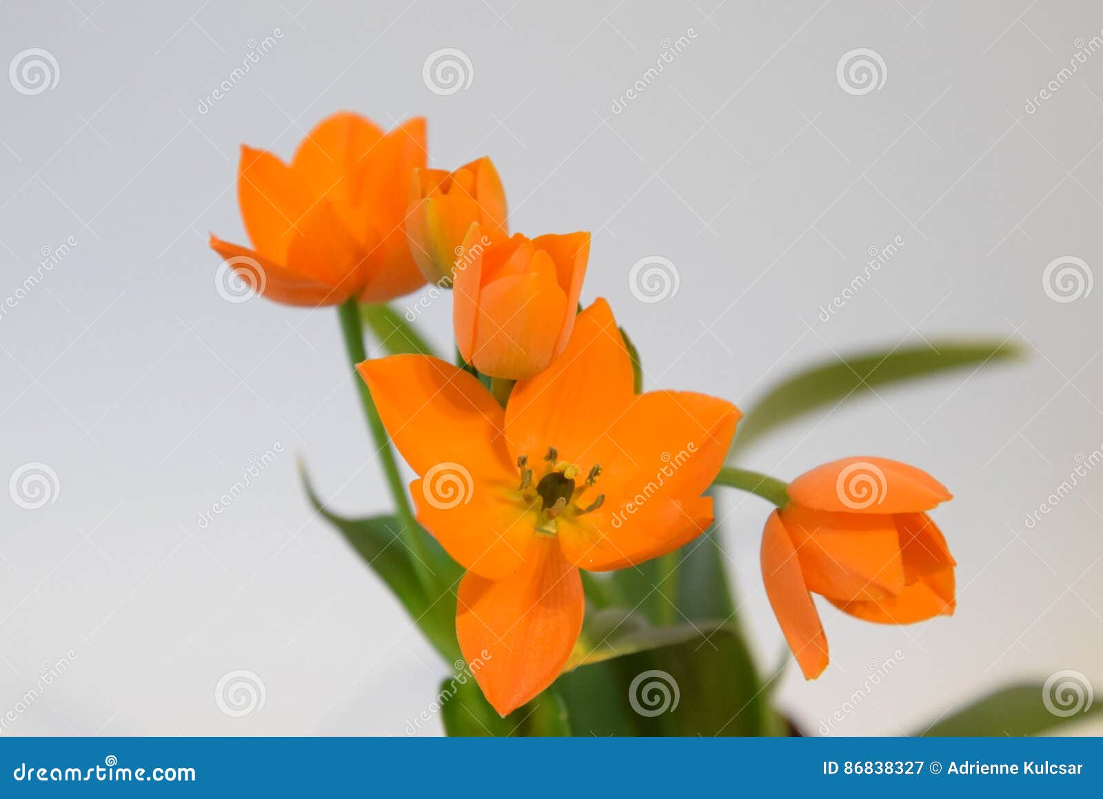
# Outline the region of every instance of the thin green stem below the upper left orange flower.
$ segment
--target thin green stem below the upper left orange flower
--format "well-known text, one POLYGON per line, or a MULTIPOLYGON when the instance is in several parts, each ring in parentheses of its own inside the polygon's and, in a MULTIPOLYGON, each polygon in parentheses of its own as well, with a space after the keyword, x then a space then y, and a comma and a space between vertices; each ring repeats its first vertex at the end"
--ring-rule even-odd
POLYGON ((367 427, 372 432, 372 439, 375 441, 376 455, 379 456, 379 464, 387 478, 387 486, 394 497, 396 515, 403 526, 403 541, 410 551, 414 571, 418 575, 422 587, 429 589, 431 584, 428 568, 428 554, 421 542, 420 529, 414 520, 409 500, 406 498, 406 487, 403 484, 401 475, 398 471, 398 464, 395 461, 395 452, 390 448, 390 438, 387 429, 383 426, 379 412, 372 400, 372 392, 367 390, 367 384, 356 373, 356 364, 367 360, 367 352, 364 350, 364 331, 361 327, 360 305, 356 299, 350 299, 338 308, 338 316, 341 318, 341 332, 344 334, 345 349, 349 351, 349 360, 353 365, 353 381, 360 393, 361 404, 364 406, 364 416, 367 418, 367 427))

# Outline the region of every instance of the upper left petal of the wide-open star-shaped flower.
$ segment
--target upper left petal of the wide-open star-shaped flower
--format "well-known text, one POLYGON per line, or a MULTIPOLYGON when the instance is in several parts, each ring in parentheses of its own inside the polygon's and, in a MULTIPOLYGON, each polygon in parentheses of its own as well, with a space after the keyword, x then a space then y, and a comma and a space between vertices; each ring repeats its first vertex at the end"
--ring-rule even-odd
POLYGON ((482 479, 514 479, 502 407, 474 376, 428 355, 357 364, 387 434, 421 477, 459 464, 482 479))

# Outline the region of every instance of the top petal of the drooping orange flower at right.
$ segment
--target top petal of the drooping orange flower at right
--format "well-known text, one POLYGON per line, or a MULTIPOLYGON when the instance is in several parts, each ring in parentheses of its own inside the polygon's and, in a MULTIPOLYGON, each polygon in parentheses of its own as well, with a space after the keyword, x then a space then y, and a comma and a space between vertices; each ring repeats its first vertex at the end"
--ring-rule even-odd
POLYGON ((953 499, 922 469, 868 456, 817 466, 789 484, 789 496, 805 508, 844 513, 909 513, 953 499))

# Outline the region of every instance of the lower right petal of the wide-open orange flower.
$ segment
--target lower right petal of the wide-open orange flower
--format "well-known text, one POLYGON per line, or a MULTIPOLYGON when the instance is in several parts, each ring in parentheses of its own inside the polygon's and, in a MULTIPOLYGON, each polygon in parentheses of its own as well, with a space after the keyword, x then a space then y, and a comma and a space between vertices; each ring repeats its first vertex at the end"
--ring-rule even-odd
POLYGON ((689 543, 713 523, 713 498, 651 501, 608 511, 604 507, 558 525, 564 556, 589 572, 627 568, 689 543))

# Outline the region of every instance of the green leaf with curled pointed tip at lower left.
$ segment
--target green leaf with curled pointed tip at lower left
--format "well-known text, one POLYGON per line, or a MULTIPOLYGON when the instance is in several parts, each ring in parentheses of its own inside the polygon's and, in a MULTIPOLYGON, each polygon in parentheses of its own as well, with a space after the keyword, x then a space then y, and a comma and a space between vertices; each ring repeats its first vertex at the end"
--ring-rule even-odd
POLYGON ((419 528, 417 532, 425 536, 425 548, 430 558, 429 568, 433 573, 436 584, 433 595, 427 594, 414 569, 409 550, 401 541, 401 525, 395 516, 378 515, 367 519, 339 516, 326 510, 314 493, 302 464, 299 465, 299 476, 310 504, 338 529, 364 563, 398 597, 410 618, 421 628, 441 657, 448 661, 458 659, 460 648, 456 640, 456 594, 452 586, 462 576, 462 568, 419 528))

